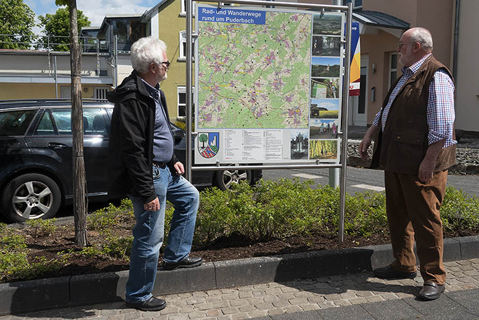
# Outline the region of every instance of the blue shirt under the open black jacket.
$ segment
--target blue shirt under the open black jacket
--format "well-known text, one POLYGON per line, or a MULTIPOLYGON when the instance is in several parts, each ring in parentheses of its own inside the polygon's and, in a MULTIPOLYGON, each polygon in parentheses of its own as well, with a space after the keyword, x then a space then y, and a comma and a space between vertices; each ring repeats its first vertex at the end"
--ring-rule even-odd
POLYGON ((170 121, 166 119, 166 113, 161 106, 159 90, 142 79, 146 84, 146 90, 150 97, 155 100, 155 133, 153 134, 153 161, 169 162, 173 158, 174 140, 170 128, 170 121))

